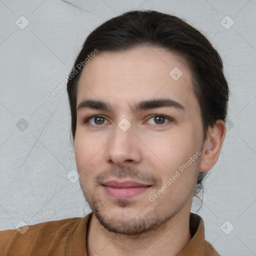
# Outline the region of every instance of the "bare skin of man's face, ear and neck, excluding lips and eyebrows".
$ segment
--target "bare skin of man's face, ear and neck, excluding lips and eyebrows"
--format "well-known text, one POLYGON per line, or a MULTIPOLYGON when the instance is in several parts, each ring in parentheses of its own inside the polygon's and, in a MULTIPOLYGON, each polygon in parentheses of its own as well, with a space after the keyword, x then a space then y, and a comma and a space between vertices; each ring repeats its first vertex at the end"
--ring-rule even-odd
POLYGON ((88 99, 111 108, 77 110, 75 159, 81 189, 93 210, 89 255, 176 255, 191 239, 189 212, 196 179, 218 158, 223 121, 210 128, 203 141, 189 67, 177 53, 153 46, 99 52, 83 68, 78 84, 77 106, 88 99), (177 80, 169 75, 174 67, 182 71, 177 80), (153 99, 171 99, 183 108, 133 109, 134 104, 153 99), (87 119, 91 115, 99 118, 87 119), (127 127, 123 118, 131 124, 126 131, 118 126, 127 127), (169 178, 196 152, 201 156, 166 188, 169 178), (120 199, 106 192, 102 182, 108 180, 150 186, 120 199), (162 194, 150 201, 164 184, 162 194))

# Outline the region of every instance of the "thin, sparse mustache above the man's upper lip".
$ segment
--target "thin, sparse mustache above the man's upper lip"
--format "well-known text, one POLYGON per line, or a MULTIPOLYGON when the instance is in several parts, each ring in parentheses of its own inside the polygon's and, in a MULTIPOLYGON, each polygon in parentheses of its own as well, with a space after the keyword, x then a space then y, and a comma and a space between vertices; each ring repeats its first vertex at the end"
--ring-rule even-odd
POLYGON ((152 173, 142 172, 138 168, 134 168, 133 166, 129 165, 122 168, 118 168, 114 166, 109 170, 104 170, 95 176, 94 182, 100 185, 103 181, 105 181, 109 177, 118 177, 118 178, 129 177, 134 181, 149 182, 149 183, 156 183, 157 181, 160 180, 160 177, 152 173))

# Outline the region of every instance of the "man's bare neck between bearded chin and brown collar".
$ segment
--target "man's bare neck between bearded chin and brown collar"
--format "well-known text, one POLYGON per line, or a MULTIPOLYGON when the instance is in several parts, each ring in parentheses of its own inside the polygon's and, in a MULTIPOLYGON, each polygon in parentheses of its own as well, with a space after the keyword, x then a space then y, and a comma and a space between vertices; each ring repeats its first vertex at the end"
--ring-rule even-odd
POLYGON ((130 236, 107 231, 92 214, 88 227, 88 256, 175 256, 190 241, 190 208, 183 208, 164 225, 148 233, 130 236))

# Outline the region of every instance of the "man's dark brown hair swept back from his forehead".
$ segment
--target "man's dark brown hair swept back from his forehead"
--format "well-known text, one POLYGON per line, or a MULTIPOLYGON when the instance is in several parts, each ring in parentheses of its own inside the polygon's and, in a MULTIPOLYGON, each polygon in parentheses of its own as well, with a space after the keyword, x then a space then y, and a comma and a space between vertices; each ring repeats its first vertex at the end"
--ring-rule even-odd
MULTIPOLYGON (((201 110, 203 138, 216 120, 225 121, 228 84, 223 74, 222 60, 208 39, 197 29, 176 16, 154 10, 128 11, 113 17, 95 28, 83 43, 73 68, 95 49, 116 51, 139 45, 159 46, 179 53, 188 63, 193 80, 193 91, 201 110)), ((72 69, 73 70, 73 69, 72 69)), ((71 133, 76 130, 76 93, 82 69, 67 82, 71 112, 71 133)), ((205 172, 200 172, 194 196, 203 190, 205 172)))

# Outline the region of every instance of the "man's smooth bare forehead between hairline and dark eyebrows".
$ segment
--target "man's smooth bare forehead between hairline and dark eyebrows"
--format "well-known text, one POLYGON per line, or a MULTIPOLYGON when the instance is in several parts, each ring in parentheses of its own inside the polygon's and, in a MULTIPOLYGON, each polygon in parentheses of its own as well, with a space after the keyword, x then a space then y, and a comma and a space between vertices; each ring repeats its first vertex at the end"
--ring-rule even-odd
POLYGON ((77 105, 86 98, 122 107, 153 97, 166 97, 189 105, 196 100, 191 71, 178 53, 156 46, 104 51, 83 68, 77 105), (126 104, 127 103, 127 104, 126 104))

